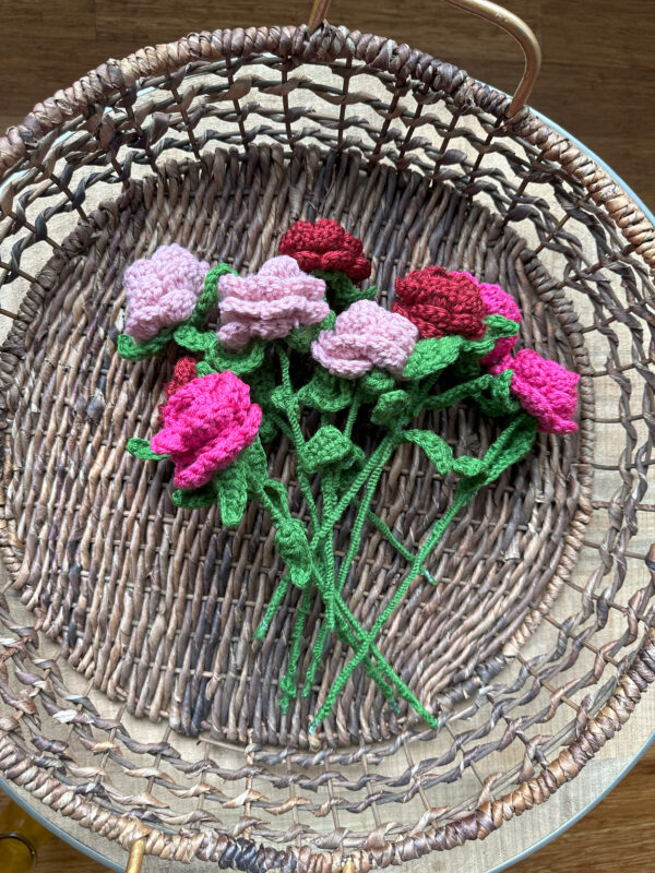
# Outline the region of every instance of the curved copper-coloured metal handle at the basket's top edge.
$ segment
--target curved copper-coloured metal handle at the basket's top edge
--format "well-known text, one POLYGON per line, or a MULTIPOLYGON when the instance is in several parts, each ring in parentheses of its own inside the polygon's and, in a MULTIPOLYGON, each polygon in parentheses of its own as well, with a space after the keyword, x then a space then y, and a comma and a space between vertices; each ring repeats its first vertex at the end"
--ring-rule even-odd
MULTIPOLYGON (((318 29, 325 21, 330 2, 331 0, 314 0, 308 24, 310 33, 318 29)), ((505 112, 508 118, 513 118, 527 103, 541 68, 541 49, 537 37, 523 19, 498 3, 491 3, 490 0, 445 0, 445 2, 496 24, 497 27, 513 37, 523 49, 525 69, 505 112)))

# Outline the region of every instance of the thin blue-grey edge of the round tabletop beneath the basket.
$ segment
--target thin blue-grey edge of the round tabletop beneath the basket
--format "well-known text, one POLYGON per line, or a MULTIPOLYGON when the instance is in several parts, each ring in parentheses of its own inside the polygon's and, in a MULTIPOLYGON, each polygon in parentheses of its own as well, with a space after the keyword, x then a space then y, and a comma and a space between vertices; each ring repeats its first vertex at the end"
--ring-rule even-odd
MULTIPOLYGON (((598 155, 595 152, 592 152, 590 148, 587 148, 587 146, 583 145, 580 142, 580 140, 577 140, 571 133, 565 131, 562 127, 560 127, 560 124, 557 124, 555 121, 549 119, 547 116, 543 115, 541 112, 533 108, 531 108, 531 111, 534 116, 536 116, 546 124, 548 124, 548 127, 552 128, 552 130, 557 131, 557 133, 561 134, 564 139, 569 140, 570 143, 580 148, 581 152, 591 157, 592 160, 594 160, 603 170, 605 170, 605 172, 608 176, 610 176, 616 182, 618 182, 618 184, 621 186, 621 188, 628 194, 628 196, 634 203, 636 203, 636 205, 644 213, 648 222, 651 222, 651 224, 655 226, 655 216, 653 215, 653 212, 646 206, 643 200, 632 190, 632 188, 627 182, 624 182, 621 179, 621 177, 618 176, 605 160, 603 160, 602 157, 598 157, 598 155)), ((586 806, 580 810, 580 812, 577 812, 568 822, 564 822, 564 824, 560 825, 558 828, 548 834, 547 837, 544 837, 543 839, 535 842, 534 846, 531 846, 524 851, 520 852, 519 854, 515 854, 510 860, 503 861, 502 863, 497 864, 493 868, 490 868, 488 873, 501 873, 501 871, 507 870, 509 866, 512 866, 512 864, 516 864, 519 861, 528 858, 531 854, 538 851, 539 849, 543 849, 545 846, 548 846, 549 842, 552 842, 553 839, 557 839, 557 837, 561 836, 565 830, 568 830, 574 824, 580 822, 581 818, 584 818, 584 816, 588 812, 591 812, 594 809, 594 806, 600 803, 600 801, 605 800, 605 798, 609 794, 610 791, 614 791, 614 789, 621 781, 621 779, 623 779, 630 773, 630 770, 643 757, 643 755, 646 753, 646 751, 651 748, 651 745, 654 742, 655 742, 655 729, 653 730, 646 742, 639 750, 639 752, 636 752, 634 757, 630 760, 630 762, 623 767, 623 769, 618 774, 618 776, 607 786, 607 788, 604 791, 602 791, 597 797, 591 800, 586 806)), ((40 825, 47 828, 56 837, 59 837, 59 839, 63 840, 64 842, 68 842, 69 846, 72 846, 82 854, 86 854, 93 861, 96 861, 99 864, 104 864, 105 866, 108 866, 110 870, 117 871, 117 873, 123 872, 124 866, 119 866, 115 861, 110 861, 108 858, 105 858, 105 856, 100 854, 95 849, 92 849, 91 846, 87 846, 86 844, 82 842, 80 839, 78 839, 78 837, 73 837, 71 834, 67 834, 66 830, 60 828, 53 822, 50 822, 48 818, 46 818, 38 811, 37 808, 32 806, 27 801, 23 800, 23 798, 14 789, 13 785, 7 781, 7 779, 1 775, 0 775, 0 788, 15 803, 17 803, 19 806, 22 806, 22 809, 25 810, 25 812, 29 816, 32 816, 32 818, 34 818, 36 822, 38 822, 40 825)))

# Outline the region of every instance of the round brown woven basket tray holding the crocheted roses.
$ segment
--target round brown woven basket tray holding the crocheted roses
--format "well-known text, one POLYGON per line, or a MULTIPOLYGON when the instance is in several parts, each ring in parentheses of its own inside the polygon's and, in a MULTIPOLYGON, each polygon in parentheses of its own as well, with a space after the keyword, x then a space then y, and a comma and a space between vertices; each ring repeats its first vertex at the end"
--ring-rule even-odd
MULTIPOLYGON (((0 140, 0 775, 108 862, 353 873, 483 839, 654 680, 655 231, 521 100, 370 34, 253 27, 108 61, 0 140), (479 494, 380 636, 436 733, 356 671, 309 737, 338 646, 283 714, 297 597, 252 645, 266 523, 176 511, 165 465, 124 451, 174 362, 116 354, 126 265, 177 241, 257 268, 317 217, 361 237, 383 291, 426 263, 499 282, 523 342, 582 374, 577 433, 479 494)), ((476 416, 434 428, 466 450, 476 416)), ((377 511, 415 541, 449 497, 406 446, 377 511)), ((346 596, 370 626, 398 566, 365 542, 346 596)))

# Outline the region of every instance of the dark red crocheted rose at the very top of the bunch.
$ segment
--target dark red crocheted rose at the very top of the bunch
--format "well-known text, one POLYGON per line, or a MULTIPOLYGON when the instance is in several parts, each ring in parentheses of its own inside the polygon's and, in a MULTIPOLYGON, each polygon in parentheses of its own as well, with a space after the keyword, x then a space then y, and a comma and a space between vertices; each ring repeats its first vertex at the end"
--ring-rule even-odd
POLYGON ((371 275, 371 263, 364 256, 361 240, 330 218, 315 224, 296 222, 279 240, 279 253, 295 258, 307 273, 333 270, 353 282, 371 275))

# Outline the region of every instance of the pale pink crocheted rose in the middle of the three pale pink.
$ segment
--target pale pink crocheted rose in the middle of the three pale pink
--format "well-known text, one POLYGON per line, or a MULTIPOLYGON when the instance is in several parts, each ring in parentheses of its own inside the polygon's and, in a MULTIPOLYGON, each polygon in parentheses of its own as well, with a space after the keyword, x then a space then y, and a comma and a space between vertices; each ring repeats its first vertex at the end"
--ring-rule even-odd
POLYGON ((222 276, 218 338, 233 351, 254 337, 276 339, 301 324, 315 324, 329 314, 325 283, 303 273, 293 258, 271 258, 252 276, 222 276))

